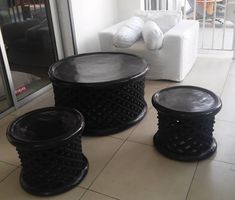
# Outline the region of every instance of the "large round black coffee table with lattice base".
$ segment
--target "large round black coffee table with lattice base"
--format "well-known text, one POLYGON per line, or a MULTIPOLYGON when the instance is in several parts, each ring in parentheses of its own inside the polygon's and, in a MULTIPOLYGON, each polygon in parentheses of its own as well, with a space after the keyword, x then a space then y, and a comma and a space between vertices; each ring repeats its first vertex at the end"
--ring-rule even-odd
POLYGON ((139 122, 148 64, 125 53, 89 53, 61 60, 49 69, 55 106, 78 109, 85 135, 108 135, 139 122))

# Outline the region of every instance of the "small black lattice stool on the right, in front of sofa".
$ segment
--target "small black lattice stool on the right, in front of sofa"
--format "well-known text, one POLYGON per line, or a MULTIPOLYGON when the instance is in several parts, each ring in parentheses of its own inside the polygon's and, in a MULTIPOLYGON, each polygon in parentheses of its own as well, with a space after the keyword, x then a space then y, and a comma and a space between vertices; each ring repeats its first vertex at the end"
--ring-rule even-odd
POLYGON ((213 92, 194 86, 176 86, 156 92, 152 104, 158 112, 154 144, 165 156, 196 161, 217 148, 213 138, 215 115, 222 103, 213 92))

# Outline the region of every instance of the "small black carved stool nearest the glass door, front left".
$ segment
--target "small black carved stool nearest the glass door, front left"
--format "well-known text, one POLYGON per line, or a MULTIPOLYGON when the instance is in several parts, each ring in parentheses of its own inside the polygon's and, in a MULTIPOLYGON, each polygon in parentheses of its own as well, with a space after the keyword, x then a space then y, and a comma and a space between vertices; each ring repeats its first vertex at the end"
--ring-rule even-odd
POLYGON ((82 154, 83 116, 71 108, 43 108, 13 121, 7 138, 21 159, 20 184, 34 195, 55 195, 79 184, 88 171, 82 154))

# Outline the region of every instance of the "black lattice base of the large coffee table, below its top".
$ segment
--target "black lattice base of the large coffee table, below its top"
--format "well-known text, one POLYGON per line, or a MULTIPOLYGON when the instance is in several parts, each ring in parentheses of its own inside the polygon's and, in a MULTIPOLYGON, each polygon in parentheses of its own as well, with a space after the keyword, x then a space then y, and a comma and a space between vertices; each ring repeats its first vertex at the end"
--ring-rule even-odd
POLYGON ((79 110, 85 118, 84 135, 109 135, 125 130, 144 118, 144 78, 108 87, 53 85, 55 106, 79 110))

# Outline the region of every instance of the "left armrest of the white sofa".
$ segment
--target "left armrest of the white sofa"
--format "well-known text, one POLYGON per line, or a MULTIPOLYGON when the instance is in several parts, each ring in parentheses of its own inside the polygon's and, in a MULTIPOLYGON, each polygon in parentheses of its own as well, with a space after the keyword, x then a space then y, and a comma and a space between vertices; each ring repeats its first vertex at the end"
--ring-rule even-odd
POLYGON ((125 21, 119 22, 109 28, 99 32, 100 48, 101 51, 111 51, 113 47, 114 34, 126 23, 125 21))

